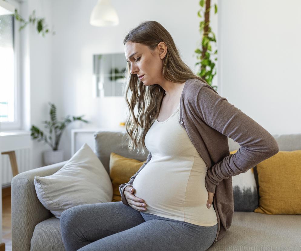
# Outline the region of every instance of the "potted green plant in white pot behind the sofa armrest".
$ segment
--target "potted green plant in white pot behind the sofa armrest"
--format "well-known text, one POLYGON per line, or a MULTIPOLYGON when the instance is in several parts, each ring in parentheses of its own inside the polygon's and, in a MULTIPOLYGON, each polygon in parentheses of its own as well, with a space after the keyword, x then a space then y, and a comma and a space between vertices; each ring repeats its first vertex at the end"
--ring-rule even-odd
POLYGON ((44 140, 52 150, 50 151, 44 151, 43 152, 43 160, 44 164, 51 165, 54 163, 62 162, 63 161, 63 150, 58 149, 58 145, 60 143, 60 139, 62 136, 63 131, 65 128, 71 123, 76 120, 88 123, 87 120, 82 119, 82 116, 79 117, 72 117, 72 120, 70 119, 70 116, 68 115, 63 121, 58 121, 56 116, 56 106, 55 104, 52 104, 51 102, 48 103, 50 107, 50 121, 43 121, 42 123, 45 124, 45 128, 49 129, 49 135, 45 135, 43 131, 41 131, 38 127, 32 125, 31 126, 31 139, 37 139, 38 142, 44 140), (54 135, 54 138, 52 137, 54 135), (54 139, 54 141, 53 141, 54 139))

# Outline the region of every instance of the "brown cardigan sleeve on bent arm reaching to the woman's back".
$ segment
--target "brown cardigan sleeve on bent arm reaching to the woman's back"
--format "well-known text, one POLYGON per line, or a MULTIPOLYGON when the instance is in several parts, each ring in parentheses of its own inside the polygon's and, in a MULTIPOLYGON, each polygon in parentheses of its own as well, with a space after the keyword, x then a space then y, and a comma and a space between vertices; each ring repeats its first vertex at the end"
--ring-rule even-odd
POLYGON ((240 148, 211 166, 205 177, 205 186, 215 193, 222 179, 246 172, 279 152, 274 137, 240 109, 230 104, 208 84, 196 93, 197 113, 210 127, 238 142, 240 148))

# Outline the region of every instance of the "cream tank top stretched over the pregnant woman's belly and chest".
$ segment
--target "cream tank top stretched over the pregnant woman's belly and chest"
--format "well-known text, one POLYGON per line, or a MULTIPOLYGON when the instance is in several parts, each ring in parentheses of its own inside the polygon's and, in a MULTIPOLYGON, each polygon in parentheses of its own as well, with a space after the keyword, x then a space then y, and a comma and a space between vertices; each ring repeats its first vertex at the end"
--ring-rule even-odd
POLYGON ((168 119, 156 119, 148 130, 144 142, 152 156, 134 179, 134 195, 144 199, 143 213, 214 226, 215 210, 207 208, 207 167, 179 121, 180 103, 168 119))

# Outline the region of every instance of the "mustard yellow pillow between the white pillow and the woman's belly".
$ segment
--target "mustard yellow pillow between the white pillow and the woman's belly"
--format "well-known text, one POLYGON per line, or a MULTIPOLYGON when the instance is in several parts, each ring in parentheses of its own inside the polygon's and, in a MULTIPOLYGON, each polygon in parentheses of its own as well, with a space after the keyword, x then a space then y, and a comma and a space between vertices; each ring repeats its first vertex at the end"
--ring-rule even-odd
POLYGON ((139 170, 139 168, 146 162, 137 159, 130 159, 121 156, 117 153, 110 154, 110 178, 113 185, 113 199, 111 202, 121 201, 119 186, 129 182, 131 177, 139 170))

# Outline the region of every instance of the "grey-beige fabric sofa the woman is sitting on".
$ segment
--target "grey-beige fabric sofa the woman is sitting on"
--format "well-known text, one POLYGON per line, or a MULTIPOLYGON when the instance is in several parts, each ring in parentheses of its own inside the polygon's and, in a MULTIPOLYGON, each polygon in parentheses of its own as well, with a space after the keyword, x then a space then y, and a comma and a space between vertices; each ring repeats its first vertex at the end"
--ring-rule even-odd
MULTIPOLYGON (((301 149, 301 134, 273 135, 279 149, 301 149)), ((228 138, 230 151, 238 149, 237 142, 228 138)), ((95 153, 109 173, 110 153, 144 161, 144 156, 130 154, 124 132, 94 133, 95 153)), ((63 251, 60 220, 38 200, 34 177, 48 176, 67 161, 32 169, 12 179, 12 250, 63 251)), ((297 198, 296 198, 297 199, 297 198)), ((265 215, 254 212, 234 212, 226 235, 208 250, 301 250, 301 215, 265 215)))

